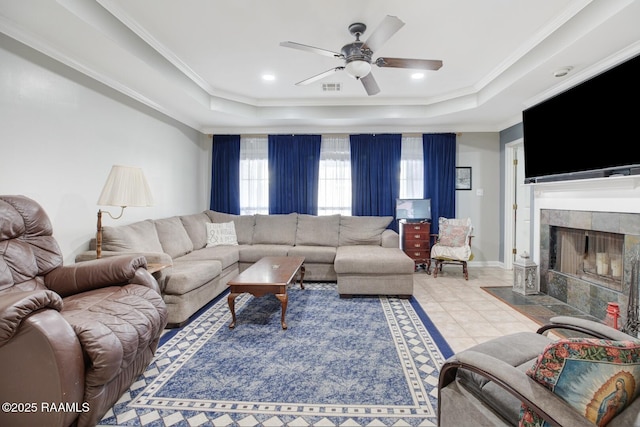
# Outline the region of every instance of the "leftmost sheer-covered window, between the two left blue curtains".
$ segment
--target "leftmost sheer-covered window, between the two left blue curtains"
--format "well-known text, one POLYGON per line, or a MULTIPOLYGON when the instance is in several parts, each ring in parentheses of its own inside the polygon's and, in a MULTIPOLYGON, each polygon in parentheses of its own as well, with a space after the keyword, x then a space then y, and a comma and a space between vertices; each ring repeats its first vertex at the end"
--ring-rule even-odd
POLYGON ((269 143, 266 136, 240 139, 240 214, 269 213, 269 143))

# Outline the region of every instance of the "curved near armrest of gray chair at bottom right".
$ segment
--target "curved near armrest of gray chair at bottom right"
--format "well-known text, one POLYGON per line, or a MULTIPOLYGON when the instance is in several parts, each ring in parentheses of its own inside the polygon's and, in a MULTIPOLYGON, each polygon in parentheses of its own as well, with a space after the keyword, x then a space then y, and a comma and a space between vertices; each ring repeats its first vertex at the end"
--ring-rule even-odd
POLYGON ((466 369, 488 378, 525 403, 551 425, 593 427, 591 422, 562 398, 525 373, 502 360, 473 350, 462 351, 447 359, 440 371, 438 390, 455 380, 458 369, 466 369))

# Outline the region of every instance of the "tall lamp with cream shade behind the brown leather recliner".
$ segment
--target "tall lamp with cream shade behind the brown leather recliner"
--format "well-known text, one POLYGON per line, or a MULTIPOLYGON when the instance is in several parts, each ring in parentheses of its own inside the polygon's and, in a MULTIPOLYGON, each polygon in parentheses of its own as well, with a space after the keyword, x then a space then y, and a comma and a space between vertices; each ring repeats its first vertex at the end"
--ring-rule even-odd
POLYGON ((102 213, 118 219, 127 206, 153 206, 153 196, 142 169, 130 166, 113 166, 98 198, 98 206, 120 206, 120 215, 98 209, 96 233, 96 258, 102 256, 102 213))

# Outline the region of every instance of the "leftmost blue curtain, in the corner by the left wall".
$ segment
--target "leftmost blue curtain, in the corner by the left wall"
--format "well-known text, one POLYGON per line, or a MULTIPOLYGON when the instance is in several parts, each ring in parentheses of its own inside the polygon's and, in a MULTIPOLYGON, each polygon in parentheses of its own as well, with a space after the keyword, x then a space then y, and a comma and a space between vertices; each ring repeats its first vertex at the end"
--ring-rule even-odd
POLYGON ((240 213, 240 135, 214 135, 210 209, 240 213))

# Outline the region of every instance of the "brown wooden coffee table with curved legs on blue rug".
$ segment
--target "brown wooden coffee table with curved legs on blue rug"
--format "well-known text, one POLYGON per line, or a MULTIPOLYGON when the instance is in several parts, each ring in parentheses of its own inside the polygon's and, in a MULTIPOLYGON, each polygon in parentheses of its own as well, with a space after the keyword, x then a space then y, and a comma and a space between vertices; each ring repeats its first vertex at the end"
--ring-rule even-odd
POLYGON ((231 310, 231 323, 229 328, 236 326, 235 299, 243 293, 250 293, 255 297, 266 294, 275 294, 282 304, 280 323, 282 329, 287 329, 284 321, 287 312, 287 286, 300 272, 300 287, 304 289, 304 257, 264 257, 260 261, 240 273, 238 277, 229 282, 230 293, 227 297, 229 310, 231 310))

